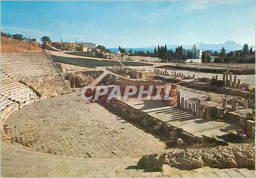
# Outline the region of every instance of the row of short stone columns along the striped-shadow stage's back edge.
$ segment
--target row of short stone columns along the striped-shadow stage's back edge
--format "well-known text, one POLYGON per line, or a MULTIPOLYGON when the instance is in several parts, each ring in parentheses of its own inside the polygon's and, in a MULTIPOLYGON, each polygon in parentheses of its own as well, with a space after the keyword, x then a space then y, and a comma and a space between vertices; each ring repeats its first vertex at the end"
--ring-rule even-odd
POLYGON ((180 91, 177 92, 177 107, 192 112, 193 114, 200 116, 202 118, 205 117, 205 106, 201 105, 201 100, 189 102, 188 100, 184 100, 184 97, 180 97, 180 91))

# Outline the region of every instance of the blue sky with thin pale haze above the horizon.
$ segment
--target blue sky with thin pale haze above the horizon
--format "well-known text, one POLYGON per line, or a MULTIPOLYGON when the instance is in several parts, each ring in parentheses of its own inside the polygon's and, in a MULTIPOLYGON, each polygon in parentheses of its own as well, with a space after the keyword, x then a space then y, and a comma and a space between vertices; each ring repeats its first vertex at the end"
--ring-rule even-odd
POLYGON ((254 1, 1 2, 2 31, 106 47, 255 44, 254 1))

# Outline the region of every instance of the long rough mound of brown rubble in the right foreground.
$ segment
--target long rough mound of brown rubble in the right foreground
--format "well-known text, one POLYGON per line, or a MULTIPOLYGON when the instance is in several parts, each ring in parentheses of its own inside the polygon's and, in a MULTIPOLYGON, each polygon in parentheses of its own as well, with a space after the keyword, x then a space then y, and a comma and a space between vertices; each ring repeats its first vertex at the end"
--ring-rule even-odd
POLYGON ((140 168, 149 171, 161 171, 163 164, 183 170, 197 169, 203 166, 253 168, 255 167, 255 147, 253 144, 240 144, 153 153, 143 156, 137 164, 140 168))

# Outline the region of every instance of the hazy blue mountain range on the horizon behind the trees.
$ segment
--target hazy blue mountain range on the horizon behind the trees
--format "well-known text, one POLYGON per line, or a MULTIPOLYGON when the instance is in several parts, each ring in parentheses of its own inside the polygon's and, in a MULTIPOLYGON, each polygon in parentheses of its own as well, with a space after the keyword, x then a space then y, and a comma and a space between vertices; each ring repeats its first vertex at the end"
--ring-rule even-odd
MULTIPOLYGON (((175 49, 178 46, 181 46, 185 49, 192 49, 192 46, 194 44, 172 44, 172 45, 167 45, 167 48, 175 49)), ((238 44, 234 41, 227 41, 224 44, 206 44, 206 43, 197 43, 196 44, 198 49, 203 49, 203 50, 220 50, 222 47, 225 47, 226 50, 239 50, 243 48, 243 45, 238 44)), ((147 47, 147 48, 152 48, 155 46, 147 47)), ((251 46, 249 45, 249 48, 251 46)), ((252 46, 252 49, 255 50, 255 45, 252 46)))

